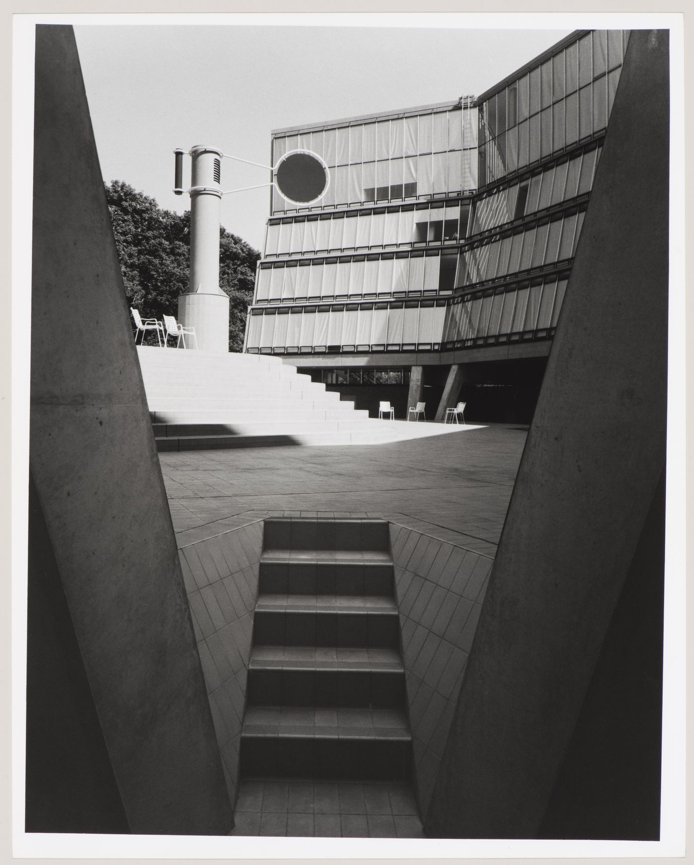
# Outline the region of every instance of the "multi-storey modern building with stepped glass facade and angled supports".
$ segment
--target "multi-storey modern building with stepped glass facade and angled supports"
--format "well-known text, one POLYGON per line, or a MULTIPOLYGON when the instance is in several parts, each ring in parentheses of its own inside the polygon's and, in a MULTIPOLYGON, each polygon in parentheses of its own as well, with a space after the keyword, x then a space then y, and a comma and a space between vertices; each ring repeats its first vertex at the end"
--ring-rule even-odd
POLYGON ((579 30, 476 99, 274 131, 273 164, 314 151, 330 181, 309 207, 274 190, 245 350, 372 414, 530 420, 627 39, 579 30))

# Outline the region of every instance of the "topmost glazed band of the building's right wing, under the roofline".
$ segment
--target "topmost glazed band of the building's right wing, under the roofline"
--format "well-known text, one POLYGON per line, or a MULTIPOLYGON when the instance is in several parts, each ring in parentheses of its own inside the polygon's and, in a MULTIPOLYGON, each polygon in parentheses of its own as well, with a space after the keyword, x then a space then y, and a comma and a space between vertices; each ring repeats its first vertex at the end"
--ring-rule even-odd
POLYGON ((594 30, 481 105, 481 187, 606 128, 627 39, 594 30))

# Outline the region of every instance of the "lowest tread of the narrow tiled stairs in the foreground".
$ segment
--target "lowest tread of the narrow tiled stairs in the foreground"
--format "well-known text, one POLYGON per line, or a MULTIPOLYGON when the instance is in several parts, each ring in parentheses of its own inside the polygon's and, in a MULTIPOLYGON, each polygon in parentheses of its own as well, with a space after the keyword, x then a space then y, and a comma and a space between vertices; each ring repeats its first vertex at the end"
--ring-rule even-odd
POLYGON ((404 711, 352 707, 249 706, 241 735, 411 739, 404 711))

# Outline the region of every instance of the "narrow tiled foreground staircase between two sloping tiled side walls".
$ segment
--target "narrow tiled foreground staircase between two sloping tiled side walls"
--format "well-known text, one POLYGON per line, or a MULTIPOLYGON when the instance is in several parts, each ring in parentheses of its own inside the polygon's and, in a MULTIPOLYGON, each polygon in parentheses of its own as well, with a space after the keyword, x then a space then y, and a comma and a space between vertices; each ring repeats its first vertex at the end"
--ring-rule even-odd
POLYGON ((244 779, 411 790, 387 522, 265 520, 246 700, 242 790, 244 779))

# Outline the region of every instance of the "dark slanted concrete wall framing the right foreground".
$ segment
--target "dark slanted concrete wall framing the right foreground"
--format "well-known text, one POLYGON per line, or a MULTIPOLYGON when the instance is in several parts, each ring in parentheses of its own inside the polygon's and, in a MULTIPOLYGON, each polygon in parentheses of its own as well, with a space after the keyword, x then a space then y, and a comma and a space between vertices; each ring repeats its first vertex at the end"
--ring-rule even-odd
MULTIPOLYGON (((538 836, 653 503, 665 464, 668 84, 667 32, 633 31, 430 836, 538 836)), ((649 615, 658 626, 661 609, 640 610, 629 628, 649 615)), ((653 698, 646 670, 635 673, 635 693, 653 698)), ((621 734, 638 735, 626 722, 621 734)), ((657 809, 657 779, 640 782, 625 793, 657 809)), ((595 830, 589 814, 563 824, 580 837, 595 830)), ((619 821, 610 825, 618 837, 619 821)))

